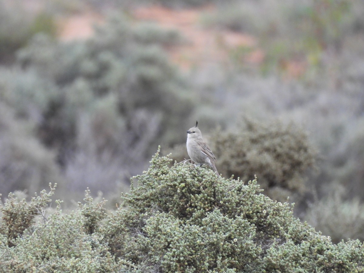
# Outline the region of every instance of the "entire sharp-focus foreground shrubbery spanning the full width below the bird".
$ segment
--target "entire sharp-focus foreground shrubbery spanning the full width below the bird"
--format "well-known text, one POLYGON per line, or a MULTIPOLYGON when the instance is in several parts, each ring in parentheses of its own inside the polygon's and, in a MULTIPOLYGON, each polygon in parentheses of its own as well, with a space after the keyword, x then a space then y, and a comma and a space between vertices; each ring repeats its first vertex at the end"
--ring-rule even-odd
POLYGON ((50 193, 1 206, 2 272, 361 272, 359 240, 337 245, 293 217, 257 181, 155 155, 138 187, 107 214, 86 192, 48 215, 50 193), (124 207, 127 206, 127 207, 124 207), (11 232, 9 233, 9 230, 11 232))

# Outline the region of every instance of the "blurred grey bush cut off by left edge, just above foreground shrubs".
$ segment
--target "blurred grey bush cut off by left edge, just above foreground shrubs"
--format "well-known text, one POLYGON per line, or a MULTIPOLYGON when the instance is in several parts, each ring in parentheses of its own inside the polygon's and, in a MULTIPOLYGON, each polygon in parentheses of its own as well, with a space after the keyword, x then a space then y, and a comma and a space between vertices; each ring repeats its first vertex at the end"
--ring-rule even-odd
POLYGON ((14 189, 30 193, 48 183, 62 181, 55 153, 33 135, 32 123, 19 120, 12 108, 0 102, 0 192, 14 189))

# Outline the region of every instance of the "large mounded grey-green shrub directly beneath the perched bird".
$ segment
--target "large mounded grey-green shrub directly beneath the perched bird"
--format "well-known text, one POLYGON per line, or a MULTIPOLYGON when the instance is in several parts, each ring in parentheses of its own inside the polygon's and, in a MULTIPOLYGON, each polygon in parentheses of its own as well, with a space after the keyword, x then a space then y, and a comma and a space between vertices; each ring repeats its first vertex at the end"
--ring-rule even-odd
POLYGON ((137 272, 350 272, 359 241, 333 245, 259 194, 256 180, 218 178, 205 167, 153 157, 106 228, 111 252, 137 272))

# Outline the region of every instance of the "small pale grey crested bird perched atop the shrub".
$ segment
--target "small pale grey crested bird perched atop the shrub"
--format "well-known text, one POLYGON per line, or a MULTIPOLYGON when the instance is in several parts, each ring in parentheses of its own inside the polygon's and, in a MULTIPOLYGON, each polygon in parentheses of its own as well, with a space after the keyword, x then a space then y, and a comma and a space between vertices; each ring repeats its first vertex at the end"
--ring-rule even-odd
POLYGON ((187 153, 193 162, 202 166, 206 164, 212 168, 219 176, 215 167, 217 162, 214 154, 212 153, 209 145, 203 140, 200 129, 196 126, 190 128, 187 132, 187 153))

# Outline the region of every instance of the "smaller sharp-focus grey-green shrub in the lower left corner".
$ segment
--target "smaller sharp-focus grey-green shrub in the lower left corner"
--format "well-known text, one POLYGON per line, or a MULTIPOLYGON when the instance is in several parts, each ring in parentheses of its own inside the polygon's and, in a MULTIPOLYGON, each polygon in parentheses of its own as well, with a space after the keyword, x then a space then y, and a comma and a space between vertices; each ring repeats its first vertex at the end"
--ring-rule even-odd
POLYGON ((104 214, 99 210, 102 204, 92 205, 92 198, 86 196, 85 204, 80 205, 78 211, 62 214, 62 211, 58 210, 48 216, 46 211, 43 211, 46 205, 44 201, 49 202, 50 200, 47 198, 51 194, 52 192, 49 194, 43 192, 41 197, 46 197, 46 199, 33 198, 29 206, 24 200, 15 207, 12 205, 13 199, 5 203, 3 213, 6 217, 3 216, 3 221, 9 226, 14 225, 7 216, 9 212, 17 215, 18 211, 27 207, 30 208, 31 215, 34 215, 35 212, 41 214, 43 221, 33 223, 31 227, 28 227, 29 221, 23 222, 24 230, 11 241, 11 247, 4 244, 6 233, 1 234, 1 271, 85 273, 118 271, 114 258, 108 252, 107 245, 102 242, 103 237, 88 229, 90 219, 93 219, 95 215, 98 215, 97 219, 103 218, 104 214), (35 212, 33 207, 37 208, 35 212), (26 227, 28 229, 25 230, 26 227))

